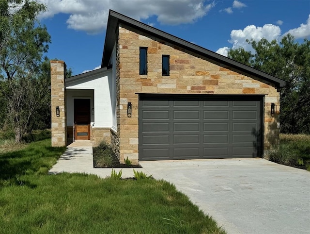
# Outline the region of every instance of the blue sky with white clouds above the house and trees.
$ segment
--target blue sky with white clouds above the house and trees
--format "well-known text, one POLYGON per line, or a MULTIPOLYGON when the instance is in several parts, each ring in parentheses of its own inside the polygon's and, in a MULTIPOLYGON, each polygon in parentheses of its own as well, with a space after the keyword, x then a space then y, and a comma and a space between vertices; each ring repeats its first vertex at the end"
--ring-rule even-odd
POLYGON ((77 75, 100 66, 109 9, 223 55, 245 40, 310 39, 310 0, 37 0, 52 43, 47 57, 77 75))

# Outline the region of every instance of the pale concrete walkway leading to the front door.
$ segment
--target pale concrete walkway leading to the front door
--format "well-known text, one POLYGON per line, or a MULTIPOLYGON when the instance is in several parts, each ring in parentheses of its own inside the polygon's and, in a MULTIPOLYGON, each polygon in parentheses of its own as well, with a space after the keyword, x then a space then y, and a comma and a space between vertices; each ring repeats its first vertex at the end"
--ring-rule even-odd
MULTIPOLYGON (((118 173, 122 169, 122 177, 133 177, 133 168, 115 168, 118 173)), ((144 168, 135 168, 150 175, 144 168)), ((111 168, 93 168, 93 144, 90 141, 75 141, 67 146, 57 163, 49 170, 49 174, 62 172, 94 174, 101 178, 111 175, 111 168)))

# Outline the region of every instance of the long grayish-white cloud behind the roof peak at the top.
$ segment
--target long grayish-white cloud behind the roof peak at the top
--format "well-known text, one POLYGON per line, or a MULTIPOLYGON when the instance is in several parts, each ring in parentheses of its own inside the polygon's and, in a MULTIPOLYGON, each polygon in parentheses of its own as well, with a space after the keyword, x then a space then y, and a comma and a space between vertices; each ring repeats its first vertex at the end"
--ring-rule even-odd
POLYGON ((137 20, 156 16, 161 24, 193 23, 215 6, 205 0, 37 0, 47 5, 42 18, 69 14, 68 28, 100 33, 106 28, 109 9, 137 20))

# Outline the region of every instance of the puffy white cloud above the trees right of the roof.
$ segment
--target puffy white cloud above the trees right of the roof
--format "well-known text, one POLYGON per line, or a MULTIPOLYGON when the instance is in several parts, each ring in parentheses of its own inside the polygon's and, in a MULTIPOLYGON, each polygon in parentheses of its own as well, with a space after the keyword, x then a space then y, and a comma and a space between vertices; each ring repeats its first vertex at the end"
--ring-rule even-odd
MULTIPOLYGON (((233 44, 232 49, 237 49, 239 47, 245 50, 252 51, 252 47, 246 42, 247 39, 254 39, 259 41, 262 38, 266 38, 268 41, 279 39, 281 35, 281 30, 279 26, 273 24, 265 24, 263 27, 256 27, 255 25, 249 25, 243 30, 233 30, 231 32, 231 39, 228 40, 233 44)), ((227 52, 230 48, 223 47, 217 50, 217 53, 227 56, 227 52)))

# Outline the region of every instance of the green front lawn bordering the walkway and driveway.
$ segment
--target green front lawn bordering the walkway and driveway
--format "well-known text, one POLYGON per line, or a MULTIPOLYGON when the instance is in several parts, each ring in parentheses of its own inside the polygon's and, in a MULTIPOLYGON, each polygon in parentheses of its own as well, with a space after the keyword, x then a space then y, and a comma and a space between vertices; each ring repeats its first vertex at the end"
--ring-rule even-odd
POLYGON ((47 175, 63 150, 46 139, 0 153, 0 234, 225 233, 165 181, 47 175))

